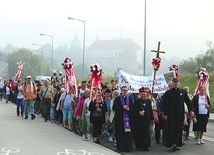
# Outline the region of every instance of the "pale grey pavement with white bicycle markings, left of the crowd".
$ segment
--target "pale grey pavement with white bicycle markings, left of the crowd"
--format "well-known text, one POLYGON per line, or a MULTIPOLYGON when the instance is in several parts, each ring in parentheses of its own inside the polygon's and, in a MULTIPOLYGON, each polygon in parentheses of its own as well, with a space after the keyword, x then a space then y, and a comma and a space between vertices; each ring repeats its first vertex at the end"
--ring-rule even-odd
POLYGON ((10 102, 0 101, 0 122, 0 155, 118 154, 42 118, 22 120, 10 102))

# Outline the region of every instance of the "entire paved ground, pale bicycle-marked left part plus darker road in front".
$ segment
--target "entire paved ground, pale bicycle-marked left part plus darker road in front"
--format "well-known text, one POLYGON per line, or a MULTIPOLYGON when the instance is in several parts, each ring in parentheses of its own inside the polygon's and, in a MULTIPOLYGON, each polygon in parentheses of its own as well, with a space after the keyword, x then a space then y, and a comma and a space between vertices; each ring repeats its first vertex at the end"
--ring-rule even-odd
POLYGON ((160 144, 152 146, 149 152, 133 150, 129 153, 116 152, 112 142, 106 136, 101 137, 101 145, 84 141, 73 132, 70 132, 54 123, 44 122, 42 118, 22 120, 16 116, 16 106, 0 101, 0 155, 116 155, 116 154, 144 154, 167 155, 213 154, 214 122, 208 124, 208 132, 204 135, 204 145, 196 145, 191 133, 190 140, 180 151, 172 152, 160 144))

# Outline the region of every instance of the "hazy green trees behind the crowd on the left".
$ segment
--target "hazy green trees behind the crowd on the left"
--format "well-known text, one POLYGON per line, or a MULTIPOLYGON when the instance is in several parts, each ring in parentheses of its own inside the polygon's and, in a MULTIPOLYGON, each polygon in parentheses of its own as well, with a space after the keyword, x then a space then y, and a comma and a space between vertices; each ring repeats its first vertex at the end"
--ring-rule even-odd
MULTIPOLYGON (((9 78, 13 78, 17 73, 18 65, 17 63, 23 61, 24 67, 22 72, 22 78, 31 75, 33 78, 39 75, 52 76, 53 73, 59 74, 59 72, 64 72, 63 67, 60 62, 53 61, 55 63, 55 68, 50 70, 50 57, 44 57, 41 54, 35 53, 32 50, 21 48, 12 53, 3 53, 0 52, 2 61, 5 61, 8 64, 8 74, 9 78), (4 58, 4 60, 3 60, 4 58)), ((61 60, 63 62, 63 60, 61 60)), ((82 64, 75 66, 75 75, 77 78, 81 77, 82 74, 82 64)), ((89 76, 89 69, 85 66, 84 68, 84 77, 89 76)))

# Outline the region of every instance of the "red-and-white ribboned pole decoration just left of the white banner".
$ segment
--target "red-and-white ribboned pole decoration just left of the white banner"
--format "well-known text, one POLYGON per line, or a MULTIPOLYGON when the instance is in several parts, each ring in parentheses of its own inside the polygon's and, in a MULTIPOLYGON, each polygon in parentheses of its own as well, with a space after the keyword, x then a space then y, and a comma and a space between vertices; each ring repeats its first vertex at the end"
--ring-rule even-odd
POLYGON ((91 88, 90 88, 90 99, 92 98, 92 91, 95 88, 95 98, 97 97, 97 89, 100 87, 102 81, 102 68, 98 63, 94 63, 90 66, 90 79, 91 79, 91 88))

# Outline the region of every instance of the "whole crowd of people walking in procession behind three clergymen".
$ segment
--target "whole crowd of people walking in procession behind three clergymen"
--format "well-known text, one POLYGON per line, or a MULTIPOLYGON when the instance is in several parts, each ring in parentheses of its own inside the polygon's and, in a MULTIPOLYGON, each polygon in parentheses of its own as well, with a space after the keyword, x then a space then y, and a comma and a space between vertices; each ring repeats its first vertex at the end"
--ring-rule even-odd
POLYGON ((82 81, 75 92, 75 86, 66 91, 56 79, 33 81, 27 76, 16 83, 0 79, 1 99, 17 105, 18 117, 34 120, 41 116, 44 122, 61 125, 83 140, 101 144, 100 136, 105 133, 118 151, 149 151, 154 132, 156 144, 176 151, 189 140, 193 124, 196 144, 204 144, 211 106, 205 87, 192 96, 189 87, 179 88, 177 78, 168 86, 164 94, 147 87, 130 93, 127 85, 117 88, 116 80, 96 89, 90 89, 90 81, 82 81))

